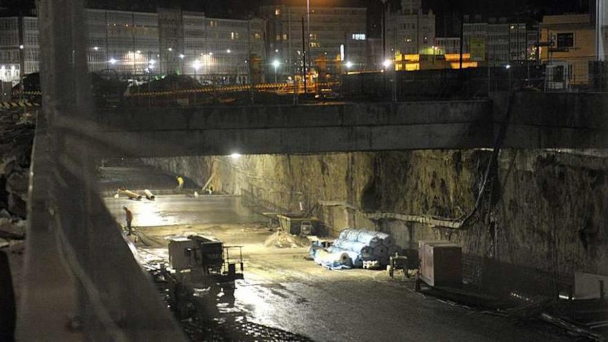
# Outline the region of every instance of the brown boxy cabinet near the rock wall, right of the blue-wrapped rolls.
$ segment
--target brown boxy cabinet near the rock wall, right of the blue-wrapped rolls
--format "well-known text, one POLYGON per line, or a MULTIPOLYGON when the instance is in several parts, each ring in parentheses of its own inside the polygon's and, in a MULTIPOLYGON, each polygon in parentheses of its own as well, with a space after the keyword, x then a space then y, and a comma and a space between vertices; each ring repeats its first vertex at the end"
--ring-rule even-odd
POLYGON ((420 278, 430 286, 462 286, 462 247, 426 243, 422 247, 420 278))

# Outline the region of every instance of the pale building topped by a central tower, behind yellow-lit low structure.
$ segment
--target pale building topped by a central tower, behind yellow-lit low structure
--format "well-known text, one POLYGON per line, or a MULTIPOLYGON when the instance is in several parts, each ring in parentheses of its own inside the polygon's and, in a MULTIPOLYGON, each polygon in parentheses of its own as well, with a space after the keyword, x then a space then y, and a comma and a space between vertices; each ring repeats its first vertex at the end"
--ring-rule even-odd
POLYGON ((386 51, 392 55, 433 55, 435 15, 421 9, 419 0, 402 0, 401 9, 386 15, 386 51))

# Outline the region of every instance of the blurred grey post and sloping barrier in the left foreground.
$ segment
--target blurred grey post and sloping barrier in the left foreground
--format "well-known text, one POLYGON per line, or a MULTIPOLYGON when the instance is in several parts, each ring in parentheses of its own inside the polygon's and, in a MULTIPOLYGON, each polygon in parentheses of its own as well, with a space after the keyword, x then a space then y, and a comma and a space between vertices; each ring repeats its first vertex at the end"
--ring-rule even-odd
POLYGON ((28 195, 19 341, 184 341, 97 191, 104 139, 86 72, 82 0, 37 1, 44 107, 28 195))

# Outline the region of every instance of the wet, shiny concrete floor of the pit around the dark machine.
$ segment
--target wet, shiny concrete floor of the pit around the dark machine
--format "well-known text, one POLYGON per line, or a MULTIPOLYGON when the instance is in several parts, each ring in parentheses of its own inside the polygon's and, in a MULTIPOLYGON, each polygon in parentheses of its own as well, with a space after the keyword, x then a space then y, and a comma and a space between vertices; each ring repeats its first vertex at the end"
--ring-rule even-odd
POLYGON ((139 247, 150 263, 167 258, 162 245, 171 236, 205 234, 243 245, 245 280, 238 281, 234 298, 206 298, 206 314, 217 321, 247 319, 314 341, 572 341, 547 325, 517 323, 422 296, 412 291, 412 281, 392 280, 386 271, 323 269, 307 260, 305 248, 264 247, 271 232, 259 225, 141 231, 158 243, 139 247))

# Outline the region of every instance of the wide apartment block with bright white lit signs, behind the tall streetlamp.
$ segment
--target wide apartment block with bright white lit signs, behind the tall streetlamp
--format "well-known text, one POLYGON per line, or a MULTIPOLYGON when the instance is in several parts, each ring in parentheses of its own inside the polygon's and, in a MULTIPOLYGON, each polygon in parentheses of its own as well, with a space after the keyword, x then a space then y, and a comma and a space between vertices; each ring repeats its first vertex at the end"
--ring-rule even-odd
POLYGON ((267 63, 274 63, 282 78, 300 75, 306 48, 307 66, 341 73, 366 67, 368 45, 365 8, 263 6, 267 21, 267 63), (309 25, 310 19, 310 25, 309 25), (309 28, 310 27, 310 28, 309 28))

